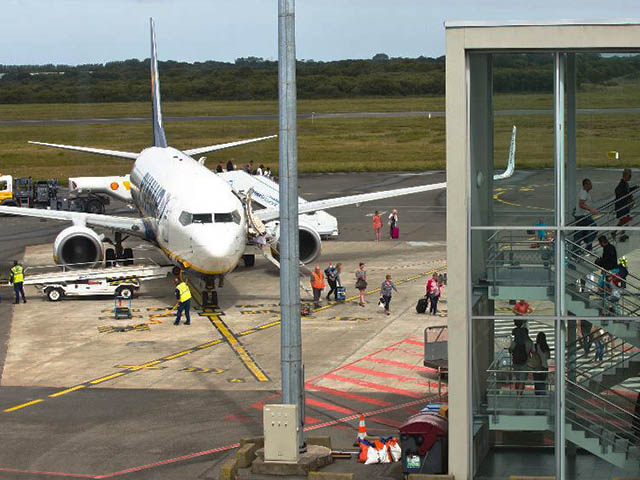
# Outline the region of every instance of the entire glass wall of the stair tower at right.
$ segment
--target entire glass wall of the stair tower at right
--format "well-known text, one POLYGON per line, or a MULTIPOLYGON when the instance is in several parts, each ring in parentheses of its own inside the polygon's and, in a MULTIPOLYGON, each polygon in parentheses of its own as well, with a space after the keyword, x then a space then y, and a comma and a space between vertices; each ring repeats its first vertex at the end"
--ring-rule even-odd
POLYGON ((474 478, 637 473, 638 79, 612 96, 580 82, 597 53, 467 55, 474 478))

